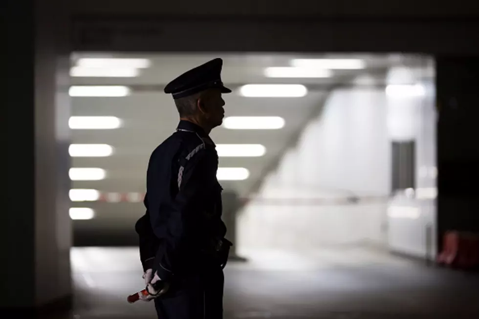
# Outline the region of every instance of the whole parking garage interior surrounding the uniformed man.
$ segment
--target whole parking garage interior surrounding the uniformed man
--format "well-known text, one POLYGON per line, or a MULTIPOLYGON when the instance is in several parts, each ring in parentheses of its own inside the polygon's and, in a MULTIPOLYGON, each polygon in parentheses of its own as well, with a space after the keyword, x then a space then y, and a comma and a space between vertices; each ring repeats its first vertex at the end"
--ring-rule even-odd
POLYGON ((2 318, 155 318, 126 296, 162 88, 218 56, 225 319, 477 317, 477 272, 438 263, 479 231, 472 7, 61 2, 9 3, 2 318))

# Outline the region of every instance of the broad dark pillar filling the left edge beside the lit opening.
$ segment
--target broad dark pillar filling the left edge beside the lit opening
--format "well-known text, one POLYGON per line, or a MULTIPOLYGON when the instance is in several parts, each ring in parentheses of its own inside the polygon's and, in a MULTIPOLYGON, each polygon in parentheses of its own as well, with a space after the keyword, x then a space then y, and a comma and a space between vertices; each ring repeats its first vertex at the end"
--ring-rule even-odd
POLYGON ((69 308, 72 293, 68 15, 60 0, 8 4, 1 318, 69 308))

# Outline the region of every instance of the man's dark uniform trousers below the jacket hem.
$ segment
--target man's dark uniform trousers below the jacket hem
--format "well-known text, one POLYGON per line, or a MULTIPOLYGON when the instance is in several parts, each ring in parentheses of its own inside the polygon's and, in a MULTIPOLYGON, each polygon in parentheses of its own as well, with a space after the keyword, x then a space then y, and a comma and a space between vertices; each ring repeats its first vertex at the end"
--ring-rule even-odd
POLYGON ((218 264, 179 276, 164 295, 154 299, 158 319, 222 319, 223 287, 218 264))

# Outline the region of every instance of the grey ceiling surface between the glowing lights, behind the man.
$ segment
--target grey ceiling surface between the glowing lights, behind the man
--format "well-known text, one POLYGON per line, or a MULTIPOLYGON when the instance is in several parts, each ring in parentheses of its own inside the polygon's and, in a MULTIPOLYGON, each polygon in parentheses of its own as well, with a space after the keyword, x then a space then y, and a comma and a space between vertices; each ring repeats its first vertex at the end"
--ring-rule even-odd
MULTIPOLYGON (((345 55, 73 54, 72 64, 81 57, 107 57, 146 58, 151 60, 151 66, 141 69, 139 76, 133 78, 72 77, 72 85, 128 85, 132 88, 131 95, 126 97, 72 97, 72 116, 116 116, 123 121, 118 129, 72 130, 74 144, 109 144, 114 148, 109 157, 73 157, 72 167, 102 168, 107 171, 107 177, 98 181, 73 181, 72 188, 96 189, 105 194, 143 193, 149 156, 174 131, 178 122, 173 100, 163 93, 162 88, 184 71, 218 56, 223 59, 223 82, 234 89, 233 93, 223 96, 226 117, 281 116, 285 120, 281 129, 231 130, 219 127, 212 131, 211 137, 216 144, 262 144, 266 148, 265 155, 261 157, 220 157, 220 167, 243 167, 250 171, 246 180, 221 181, 223 188, 235 190, 240 196, 247 196, 261 182, 264 173, 282 156, 291 141, 294 142, 295 134, 319 113, 331 89, 348 85, 359 75, 370 75, 381 85, 385 71, 391 65, 402 64, 409 59, 408 64, 414 66, 415 61, 420 61, 399 55, 348 55, 348 58, 364 59, 366 68, 333 70, 329 78, 279 79, 265 77, 264 68, 289 66, 293 58, 342 58, 345 55), (266 83, 303 84, 308 88, 308 94, 300 98, 247 98, 238 94, 240 85, 266 83)), ((131 221, 144 212, 141 203, 128 202, 128 198, 114 203, 74 202, 72 207, 93 208, 95 220, 105 225, 112 219, 131 225, 131 221)))

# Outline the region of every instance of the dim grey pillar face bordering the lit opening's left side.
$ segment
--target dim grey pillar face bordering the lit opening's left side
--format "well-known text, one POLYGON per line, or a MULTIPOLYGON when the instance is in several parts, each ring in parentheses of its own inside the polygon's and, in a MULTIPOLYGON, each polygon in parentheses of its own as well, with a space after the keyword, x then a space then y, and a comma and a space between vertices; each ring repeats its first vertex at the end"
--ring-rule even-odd
MULTIPOLYGON (((68 20, 63 4, 42 1, 35 48, 35 305, 71 296, 70 97, 68 20), (51 18, 52 15, 55 18, 51 18), (61 27, 59 27, 61 26, 61 27)), ((64 301, 66 302, 66 301, 64 301)))

